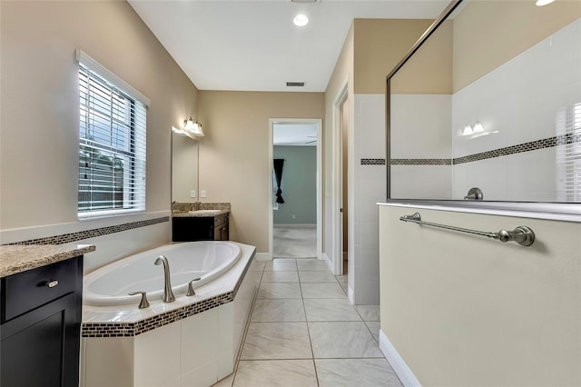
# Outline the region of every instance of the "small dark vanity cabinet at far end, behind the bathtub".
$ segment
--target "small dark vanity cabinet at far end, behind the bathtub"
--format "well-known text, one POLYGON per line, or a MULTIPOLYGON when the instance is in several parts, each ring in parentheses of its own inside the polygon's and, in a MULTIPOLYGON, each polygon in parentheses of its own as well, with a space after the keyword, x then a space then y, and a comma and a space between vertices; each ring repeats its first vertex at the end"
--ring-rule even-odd
POLYGON ((228 241, 228 213, 214 216, 172 217, 172 241, 228 241))

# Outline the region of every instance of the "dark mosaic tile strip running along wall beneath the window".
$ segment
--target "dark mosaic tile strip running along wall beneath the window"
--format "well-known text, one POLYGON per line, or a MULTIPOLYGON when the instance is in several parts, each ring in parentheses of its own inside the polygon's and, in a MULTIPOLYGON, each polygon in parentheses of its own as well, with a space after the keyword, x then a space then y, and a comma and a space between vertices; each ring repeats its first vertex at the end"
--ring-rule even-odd
POLYGON ((46 236, 44 238, 29 239, 27 241, 5 243, 5 245, 26 245, 26 244, 63 244, 82 241, 84 239, 95 238, 97 236, 107 235, 109 233, 121 233, 135 228, 141 228, 157 223, 169 222, 169 216, 162 216, 161 218, 149 219, 146 221, 117 224, 114 226, 94 228, 92 230, 80 231, 77 233, 63 233, 61 235, 46 236))

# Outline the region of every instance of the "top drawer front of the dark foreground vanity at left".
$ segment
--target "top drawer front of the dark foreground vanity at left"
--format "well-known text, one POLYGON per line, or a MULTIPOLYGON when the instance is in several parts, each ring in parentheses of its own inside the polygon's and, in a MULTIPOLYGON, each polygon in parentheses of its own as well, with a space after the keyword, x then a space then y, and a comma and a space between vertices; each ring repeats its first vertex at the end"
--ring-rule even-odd
POLYGON ((2 279, 1 322, 32 311, 77 289, 80 258, 52 263, 24 273, 2 279))

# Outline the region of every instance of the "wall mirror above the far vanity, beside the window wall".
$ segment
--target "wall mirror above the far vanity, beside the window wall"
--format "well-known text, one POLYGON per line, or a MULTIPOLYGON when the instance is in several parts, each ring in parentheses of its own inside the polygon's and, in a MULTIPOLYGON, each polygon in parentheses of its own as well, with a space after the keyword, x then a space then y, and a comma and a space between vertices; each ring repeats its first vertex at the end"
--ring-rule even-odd
POLYGON ((172 132, 172 202, 194 203, 198 197, 198 142, 172 132))

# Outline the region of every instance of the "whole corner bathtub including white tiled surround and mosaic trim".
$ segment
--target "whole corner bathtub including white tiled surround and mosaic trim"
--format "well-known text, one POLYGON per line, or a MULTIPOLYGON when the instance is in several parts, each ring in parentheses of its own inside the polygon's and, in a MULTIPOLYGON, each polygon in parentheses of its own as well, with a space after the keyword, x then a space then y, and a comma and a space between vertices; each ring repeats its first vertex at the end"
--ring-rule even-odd
POLYGON ((236 242, 176 243, 86 274, 80 385, 203 387, 231 374, 261 280, 255 253, 236 242), (172 303, 160 296, 163 269, 153 262, 161 254, 170 263, 172 303), (198 276, 202 284, 187 296, 198 276), (150 306, 139 309, 139 296, 125 295, 133 290, 148 292, 150 306))

